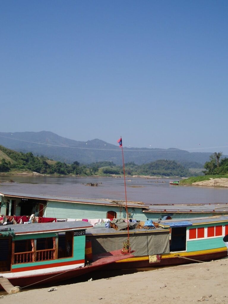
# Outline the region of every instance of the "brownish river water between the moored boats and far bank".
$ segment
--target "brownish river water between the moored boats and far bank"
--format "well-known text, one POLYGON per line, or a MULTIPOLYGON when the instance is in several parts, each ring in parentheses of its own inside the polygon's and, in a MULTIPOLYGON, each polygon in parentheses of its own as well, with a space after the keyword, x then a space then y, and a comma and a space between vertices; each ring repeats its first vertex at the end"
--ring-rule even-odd
MULTIPOLYGON (((125 201, 123 177, 0 176, 0 181, 9 181, 10 179, 17 183, 0 183, 0 192, 1 187, 10 187, 15 192, 14 185, 18 187, 19 183, 23 183, 32 184, 31 187, 36 186, 40 193, 49 194, 47 193, 48 186, 50 185, 51 190, 53 185, 61 190, 62 196, 125 201), (98 183, 98 186, 86 186, 87 183, 98 183)), ((140 201, 145 204, 228 202, 228 188, 170 185, 170 180, 168 178, 126 178, 127 201, 140 201)), ((50 193, 50 195, 54 195, 54 193, 50 193)))

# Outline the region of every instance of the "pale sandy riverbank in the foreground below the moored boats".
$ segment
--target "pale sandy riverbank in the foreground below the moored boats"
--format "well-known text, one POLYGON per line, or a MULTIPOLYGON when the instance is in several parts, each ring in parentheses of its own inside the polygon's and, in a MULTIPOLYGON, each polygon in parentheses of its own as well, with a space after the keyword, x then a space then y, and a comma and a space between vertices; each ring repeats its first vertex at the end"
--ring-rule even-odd
MULTIPOLYGON (((111 273, 110 273, 111 276, 111 273)), ((91 275, 92 277, 92 275, 91 275)), ((1 297, 28 303, 228 303, 228 258, 137 272, 113 278, 22 291, 1 297)))

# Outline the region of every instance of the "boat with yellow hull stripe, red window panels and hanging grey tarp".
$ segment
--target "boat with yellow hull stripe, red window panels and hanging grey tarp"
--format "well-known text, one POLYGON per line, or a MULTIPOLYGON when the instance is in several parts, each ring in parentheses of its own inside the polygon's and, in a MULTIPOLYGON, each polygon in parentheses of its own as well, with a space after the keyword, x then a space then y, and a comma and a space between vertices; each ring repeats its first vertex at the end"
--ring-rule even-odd
MULTIPOLYGON (((176 219, 159 222, 153 230, 133 229, 130 246, 134 257, 124 257, 108 269, 160 267, 210 261, 227 256, 223 237, 228 234, 228 216, 176 219)), ((114 250, 127 238, 126 230, 93 228, 86 232, 98 254, 114 250)))

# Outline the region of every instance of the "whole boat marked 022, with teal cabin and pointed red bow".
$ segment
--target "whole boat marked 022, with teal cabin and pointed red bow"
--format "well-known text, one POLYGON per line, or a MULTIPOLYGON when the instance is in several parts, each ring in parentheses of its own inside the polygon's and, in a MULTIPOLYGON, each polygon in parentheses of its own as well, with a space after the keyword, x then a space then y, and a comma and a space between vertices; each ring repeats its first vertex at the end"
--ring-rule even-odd
POLYGON ((121 246, 86 264, 91 244, 85 242, 85 230, 91 227, 84 221, 1 226, 0 276, 25 287, 69 279, 122 259, 121 246))

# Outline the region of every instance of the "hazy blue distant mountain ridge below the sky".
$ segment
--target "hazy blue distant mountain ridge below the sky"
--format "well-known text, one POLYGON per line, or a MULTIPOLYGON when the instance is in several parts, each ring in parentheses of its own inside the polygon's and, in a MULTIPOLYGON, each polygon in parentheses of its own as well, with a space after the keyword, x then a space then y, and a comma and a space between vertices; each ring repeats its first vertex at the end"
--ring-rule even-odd
MULTIPOLYGON (((67 164, 78 161, 90 164, 98 161, 112 161, 122 164, 121 149, 118 144, 113 145, 103 140, 88 141, 71 140, 50 131, 40 132, 0 132, 0 145, 18 152, 32 152, 50 159, 67 164)), ((179 163, 196 162, 205 164, 213 152, 188 152, 176 148, 127 148, 124 147, 125 162, 145 164, 151 161, 167 159, 179 163)), ((224 155, 224 157, 228 157, 224 155)))

